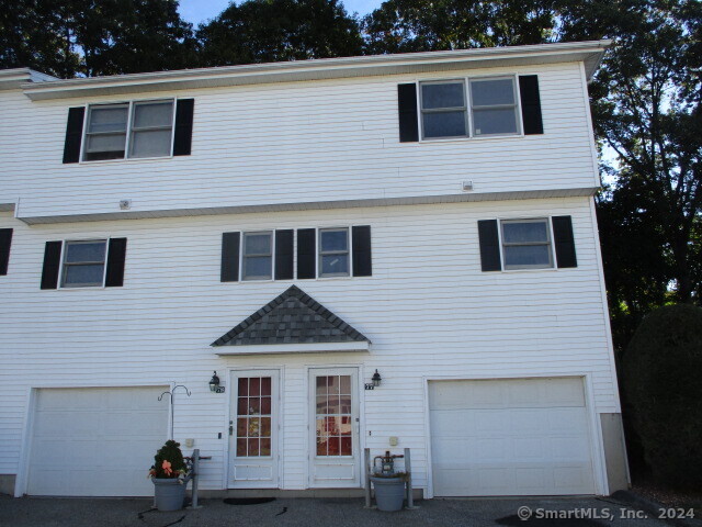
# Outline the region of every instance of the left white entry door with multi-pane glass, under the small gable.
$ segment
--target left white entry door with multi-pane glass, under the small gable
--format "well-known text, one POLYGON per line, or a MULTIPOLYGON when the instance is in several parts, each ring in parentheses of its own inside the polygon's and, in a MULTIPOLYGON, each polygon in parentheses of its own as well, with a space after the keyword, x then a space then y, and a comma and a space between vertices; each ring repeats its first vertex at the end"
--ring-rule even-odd
POLYGON ((229 487, 278 489, 280 371, 231 372, 229 487))

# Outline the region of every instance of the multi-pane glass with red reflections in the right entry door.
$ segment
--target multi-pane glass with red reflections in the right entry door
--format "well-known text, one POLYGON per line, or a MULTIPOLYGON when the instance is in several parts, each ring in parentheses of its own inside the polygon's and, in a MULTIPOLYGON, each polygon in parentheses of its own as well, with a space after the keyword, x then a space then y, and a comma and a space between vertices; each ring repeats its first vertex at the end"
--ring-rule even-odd
POLYGON ((351 391, 351 375, 318 377, 316 385, 317 456, 352 456, 351 394, 340 394, 351 391))

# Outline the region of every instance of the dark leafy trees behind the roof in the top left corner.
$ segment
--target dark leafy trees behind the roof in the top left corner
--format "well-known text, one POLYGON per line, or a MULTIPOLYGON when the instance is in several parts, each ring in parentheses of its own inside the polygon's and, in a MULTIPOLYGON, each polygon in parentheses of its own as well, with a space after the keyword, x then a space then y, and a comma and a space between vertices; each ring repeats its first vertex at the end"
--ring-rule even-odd
POLYGON ((63 78, 178 69, 195 63, 174 0, 0 0, 0 67, 63 78))

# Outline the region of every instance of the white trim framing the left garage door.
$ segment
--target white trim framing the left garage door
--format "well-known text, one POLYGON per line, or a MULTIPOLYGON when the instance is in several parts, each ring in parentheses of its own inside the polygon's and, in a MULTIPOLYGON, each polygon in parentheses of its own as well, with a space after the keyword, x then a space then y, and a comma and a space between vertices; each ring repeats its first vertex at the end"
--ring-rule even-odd
MULTIPOLYGON (((109 389, 109 388, 162 388, 163 391, 172 390, 174 386, 174 382, 163 382, 163 383, 154 383, 154 382, 144 382, 144 383, 120 383, 120 382, 111 382, 105 384, 97 384, 93 382, 84 382, 84 383, 46 383, 41 385, 34 385, 26 389, 26 401, 27 404, 25 406, 24 412, 24 424, 22 431, 22 446, 20 450, 20 459, 18 464, 18 474, 14 484, 14 497, 22 497, 27 493, 29 490, 29 472, 30 472, 30 461, 32 457, 32 438, 34 431, 34 418, 36 415, 36 406, 37 406, 37 394, 39 390, 50 390, 50 389, 109 389)), ((169 401, 169 405, 171 402, 169 401)), ((163 437, 168 438, 169 431, 171 429, 171 412, 170 407, 168 411, 168 427, 163 430, 163 437)), ((146 467, 145 470, 148 470, 146 467)))

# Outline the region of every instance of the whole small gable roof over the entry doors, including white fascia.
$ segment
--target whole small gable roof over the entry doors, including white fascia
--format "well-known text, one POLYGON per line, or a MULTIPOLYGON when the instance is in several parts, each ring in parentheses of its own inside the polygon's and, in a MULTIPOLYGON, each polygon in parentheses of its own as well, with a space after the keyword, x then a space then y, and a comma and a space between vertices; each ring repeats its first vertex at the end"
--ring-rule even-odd
POLYGON ((211 346, 218 355, 369 351, 371 341, 296 285, 211 346))

